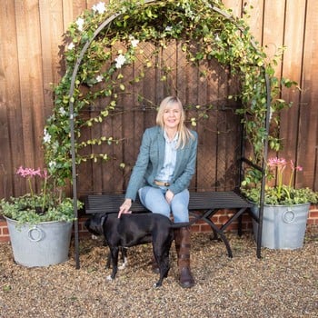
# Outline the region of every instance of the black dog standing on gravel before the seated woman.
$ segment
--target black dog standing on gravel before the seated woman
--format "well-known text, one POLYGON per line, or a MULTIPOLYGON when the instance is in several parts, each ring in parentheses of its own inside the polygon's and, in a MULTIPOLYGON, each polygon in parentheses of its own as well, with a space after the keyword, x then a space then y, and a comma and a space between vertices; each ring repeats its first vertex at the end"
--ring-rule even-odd
POLYGON ((114 280, 118 268, 118 253, 120 247, 131 247, 143 243, 153 243, 154 258, 159 266, 159 281, 155 287, 162 285, 167 277, 169 252, 174 240, 174 228, 189 225, 173 224, 170 219, 161 214, 95 214, 85 222, 89 232, 100 235, 101 226, 106 242, 108 243, 113 272, 109 279, 114 280))

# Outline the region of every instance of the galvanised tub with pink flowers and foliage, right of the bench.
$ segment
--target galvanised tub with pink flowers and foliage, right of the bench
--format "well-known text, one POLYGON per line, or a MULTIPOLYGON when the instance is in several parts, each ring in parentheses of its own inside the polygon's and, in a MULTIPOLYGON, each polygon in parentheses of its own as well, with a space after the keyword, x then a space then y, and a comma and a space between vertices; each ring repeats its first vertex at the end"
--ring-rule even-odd
MULTIPOLYGON (((263 206, 262 246, 272 249, 296 249, 303 247, 310 204, 318 202, 318 193, 309 188, 295 189, 294 174, 302 171, 293 161, 271 158, 267 162, 267 180, 273 185, 265 186, 263 206), (275 174, 274 174, 275 173, 275 174), (284 174, 289 174, 286 176, 284 174), (274 177, 274 175, 276 177, 274 177), (283 184, 284 177, 288 183, 283 184)), ((242 193, 253 202, 252 213, 258 217, 260 186, 243 188, 242 193)), ((256 238, 258 224, 253 220, 256 238)))

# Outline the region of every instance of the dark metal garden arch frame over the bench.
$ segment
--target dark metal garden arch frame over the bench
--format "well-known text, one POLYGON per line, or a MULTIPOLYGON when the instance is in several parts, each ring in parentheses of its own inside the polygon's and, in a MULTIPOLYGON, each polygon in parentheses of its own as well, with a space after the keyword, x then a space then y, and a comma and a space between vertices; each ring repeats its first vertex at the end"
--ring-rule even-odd
MULTIPOLYGON (((157 0, 144 0, 143 5, 150 5, 152 3, 155 3, 157 0)), ((243 31, 242 27, 240 25, 237 25, 235 22, 235 19, 232 15, 229 15, 228 13, 224 12, 220 8, 211 5, 207 9, 214 10, 219 15, 224 16, 227 20, 229 20, 231 23, 236 25, 238 29, 243 31)), ((77 57, 75 62, 75 67, 73 70, 73 74, 71 77, 71 85, 69 89, 69 124, 70 124, 70 133, 71 133, 71 157, 72 157, 72 182, 73 182, 73 200, 74 200, 74 214, 75 214, 75 266, 76 269, 79 269, 80 267, 80 261, 79 261, 79 237, 78 237, 78 209, 77 209, 77 184, 76 184, 76 164, 75 164, 75 114, 74 114, 74 93, 75 93, 75 80, 76 75, 79 69, 79 66, 82 63, 82 60, 84 58, 84 55, 89 48, 89 46, 94 41, 94 38, 101 33, 101 31, 107 26, 110 25, 118 16, 123 15, 122 12, 117 12, 114 15, 109 16, 104 20, 104 22, 98 26, 98 28, 94 31, 94 34, 91 36, 90 39, 87 40, 84 47, 82 48, 80 55, 77 57)), ((256 45, 252 42, 251 43, 255 48, 256 45)), ((265 80, 266 85, 266 115, 265 120, 263 123, 266 136, 263 140, 263 163, 262 167, 258 167, 262 172, 265 169, 265 162, 267 158, 267 152, 268 152, 268 133, 269 133, 269 122, 270 122, 270 106, 271 106, 271 86, 270 86, 270 79, 268 75, 265 72, 264 66, 259 66, 262 69, 262 73, 265 80)), ((254 166, 255 167, 255 166, 254 166)), ((262 178, 262 186, 261 186, 261 198, 260 198, 260 215, 259 215, 259 226, 258 226, 258 234, 257 234, 257 257, 261 258, 261 242, 262 242, 262 225, 263 225, 263 202, 264 202, 264 185, 265 185, 265 177, 263 175, 262 178)))

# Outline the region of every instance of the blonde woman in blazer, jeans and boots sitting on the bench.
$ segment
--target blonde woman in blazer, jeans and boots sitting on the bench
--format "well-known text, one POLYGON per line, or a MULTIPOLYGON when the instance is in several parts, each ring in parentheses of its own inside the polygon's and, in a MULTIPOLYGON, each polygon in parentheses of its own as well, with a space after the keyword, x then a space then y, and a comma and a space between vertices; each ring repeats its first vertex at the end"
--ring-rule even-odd
MULTIPOLYGON (((130 213, 137 193, 153 213, 174 215, 174 223, 189 221, 188 186, 195 172, 197 134, 184 125, 184 108, 174 96, 164 98, 156 116, 156 126, 144 132, 118 217, 130 213)), ((174 230, 178 255, 179 283, 194 286, 190 269, 190 228, 174 230)))

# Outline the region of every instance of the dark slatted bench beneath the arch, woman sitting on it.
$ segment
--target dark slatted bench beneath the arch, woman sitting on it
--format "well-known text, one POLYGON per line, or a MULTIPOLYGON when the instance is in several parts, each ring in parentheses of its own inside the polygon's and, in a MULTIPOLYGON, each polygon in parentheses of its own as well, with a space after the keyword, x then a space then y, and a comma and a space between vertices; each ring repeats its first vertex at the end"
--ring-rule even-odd
MULTIPOLYGON (((85 197, 86 214, 112 214, 118 213, 119 207, 124 202, 124 194, 90 194, 85 197)), ((240 194, 228 192, 190 192, 189 212, 194 215, 194 221, 203 220, 209 224, 214 232, 214 238, 219 236, 226 246, 229 257, 233 257, 230 243, 224 231, 234 222, 241 219, 242 214, 252 206, 240 194), (221 209, 234 210, 234 214, 221 227, 214 224, 212 216, 221 209)), ((144 205, 137 199, 132 204, 134 213, 148 212, 144 205)), ((242 224, 239 222, 239 234, 242 224)))

